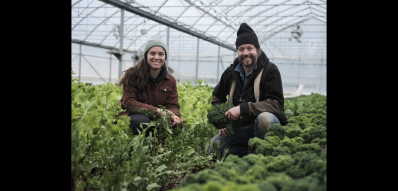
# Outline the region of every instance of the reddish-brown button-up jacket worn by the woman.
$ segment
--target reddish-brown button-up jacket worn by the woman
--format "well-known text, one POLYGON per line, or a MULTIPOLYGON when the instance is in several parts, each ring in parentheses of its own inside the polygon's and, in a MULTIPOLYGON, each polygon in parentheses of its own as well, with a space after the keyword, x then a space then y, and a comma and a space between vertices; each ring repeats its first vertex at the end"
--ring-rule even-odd
POLYGON ((137 109, 147 109, 149 111, 156 111, 160 108, 159 105, 165 106, 166 109, 173 112, 176 116, 180 116, 180 105, 178 104, 178 92, 176 79, 167 73, 166 77, 155 83, 155 88, 148 86, 147 97, 145 101, 138 99, 138 93, 134 85, 130 86, 130 90, 123 86, 123 95, 119 101, 121 108, 126 110, 115 117, 127 116, 130 114, 139 114, 137 109))

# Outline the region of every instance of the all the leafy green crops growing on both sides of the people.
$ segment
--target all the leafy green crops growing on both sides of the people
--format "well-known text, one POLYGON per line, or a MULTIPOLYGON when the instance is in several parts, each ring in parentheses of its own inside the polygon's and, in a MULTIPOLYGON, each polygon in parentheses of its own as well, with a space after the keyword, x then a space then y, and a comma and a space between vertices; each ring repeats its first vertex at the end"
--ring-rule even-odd
POLYGON ((210 139, 218 132, 206 118, 212 108, 212 87, 180 83, 180 113, 186 128, 174 129, 170 116, 157 116, 157 121, 148 124, 156 130, 145 137, 146 129, 132 135, 128 116, 115 123, 114 117, 123 111, 118 103, 120 88, 77 82, 72 78, 72 190, 326 187, 325 96, 286 99, 290 125, 271 127, 265 140, 251 139, 257 155, 229 155, 217 165, 214 158, 219 156, 208 154, 210 139))

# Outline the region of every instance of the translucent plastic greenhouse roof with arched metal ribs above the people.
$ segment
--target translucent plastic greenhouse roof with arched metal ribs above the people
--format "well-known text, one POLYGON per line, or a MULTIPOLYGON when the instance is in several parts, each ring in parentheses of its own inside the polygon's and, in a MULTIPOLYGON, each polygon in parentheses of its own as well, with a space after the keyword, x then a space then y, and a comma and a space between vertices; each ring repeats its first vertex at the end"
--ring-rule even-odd
MULTIPOLYGON (((121 9, 112 2, 124 2, 231 47, 243 22, 256 32, 260 46, 301 24, 324 25, 304 33, 312 42, 326 38, 326 0, 72 0, 72 39, 118 48, 121 9)), ((123 49, 128 50, 142 50, 149 38, 167 31, 166 25, 126 10, 123 25, 123 49)), ((179 36, 197 41, 192 35, 179 36)))

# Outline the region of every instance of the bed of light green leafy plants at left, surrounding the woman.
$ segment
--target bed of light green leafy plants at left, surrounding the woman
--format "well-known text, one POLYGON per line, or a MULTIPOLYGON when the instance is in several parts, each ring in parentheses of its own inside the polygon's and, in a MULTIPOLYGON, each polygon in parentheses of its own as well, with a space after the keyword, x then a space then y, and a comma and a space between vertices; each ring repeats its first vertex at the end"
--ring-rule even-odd
POLYGON ((154 133, 145 137, 146 129, 132 134, 128 116, 114 123, 123 111, 120 88, 76 81, 72 78, 72 190, 165 190, 187 174, 214 168, 213 155, 207 153, 216 132, 205 117, 211 87, 179 84, 186 128, 174 129, 170 116, 157 116, 147 127, 156 127, 154 133))

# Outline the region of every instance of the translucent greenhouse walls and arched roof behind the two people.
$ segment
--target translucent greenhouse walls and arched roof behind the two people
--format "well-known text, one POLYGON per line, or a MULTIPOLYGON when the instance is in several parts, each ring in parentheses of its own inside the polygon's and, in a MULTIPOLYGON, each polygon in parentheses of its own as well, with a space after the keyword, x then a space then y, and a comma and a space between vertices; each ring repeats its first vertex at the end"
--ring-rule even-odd
POLYGON ((286 97, 326 95, 326 0, 72 0, 72 76, 118 83, 160 36, 177 83, 214 87, 237 57, 241 23, 279 68, 286 97))

